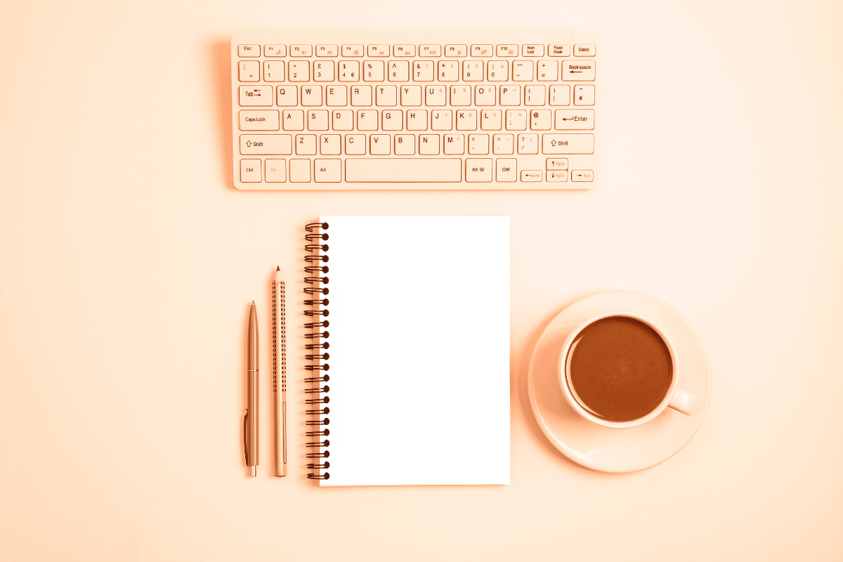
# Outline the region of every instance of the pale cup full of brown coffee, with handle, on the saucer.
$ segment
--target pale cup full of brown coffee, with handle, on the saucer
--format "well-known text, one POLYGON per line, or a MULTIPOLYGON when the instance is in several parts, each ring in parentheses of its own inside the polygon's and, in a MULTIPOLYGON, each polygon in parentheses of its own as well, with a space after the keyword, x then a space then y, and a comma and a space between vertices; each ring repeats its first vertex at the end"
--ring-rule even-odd
POLYGON ((599 426, 641 426, 666 408, 691 415, 697 402, 679 388, 669 336, 637 313, 609 311, 579 324, 562 346, 558 371, 568 403, 599 426))

